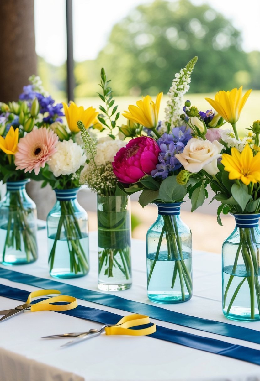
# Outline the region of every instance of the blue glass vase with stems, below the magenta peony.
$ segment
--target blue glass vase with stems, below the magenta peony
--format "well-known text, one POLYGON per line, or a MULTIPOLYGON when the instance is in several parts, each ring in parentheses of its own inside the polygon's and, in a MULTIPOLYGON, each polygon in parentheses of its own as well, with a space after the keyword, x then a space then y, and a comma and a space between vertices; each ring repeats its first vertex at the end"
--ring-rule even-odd
POLYGON ((191 231, 181 221, 181 203, 155 203, 158 217, 146 235, 147 295, 156 303, 180 303, 192 296, 191 231))

